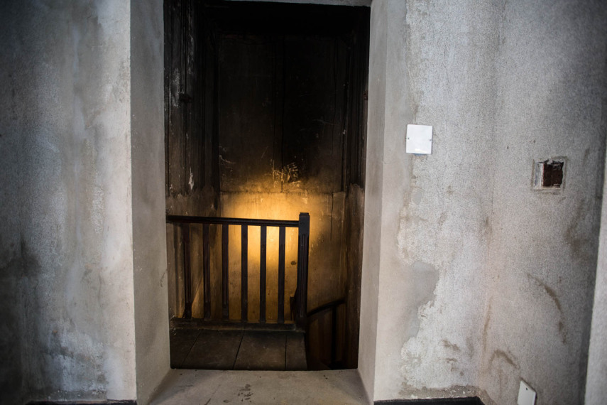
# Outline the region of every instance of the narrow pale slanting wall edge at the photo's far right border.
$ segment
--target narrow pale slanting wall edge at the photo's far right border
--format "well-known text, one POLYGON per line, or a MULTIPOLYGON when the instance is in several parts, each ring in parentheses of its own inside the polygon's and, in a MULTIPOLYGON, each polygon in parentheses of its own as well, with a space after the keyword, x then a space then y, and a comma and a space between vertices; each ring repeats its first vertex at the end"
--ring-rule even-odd
MULTIPOLYGON (((603 126, 607 130, 607 97, 603 97, 603 126)), ((607 170, 607 165, 606 165, 607 170)), ((603 173, 604 176, 604 173, 603 173)), ((603 180, 604 181, 604 180, 603 180)), ((607 193, 607 183, 603 185, 603 195, 607 193)), ((601 405, 607 399, 607 199, 603 198, 601 210, 601 233, 598 237, 598 263, 592 308, 592 328, 588 353, 588 373, 586 374, 586 395, 584 404, 601 405)))

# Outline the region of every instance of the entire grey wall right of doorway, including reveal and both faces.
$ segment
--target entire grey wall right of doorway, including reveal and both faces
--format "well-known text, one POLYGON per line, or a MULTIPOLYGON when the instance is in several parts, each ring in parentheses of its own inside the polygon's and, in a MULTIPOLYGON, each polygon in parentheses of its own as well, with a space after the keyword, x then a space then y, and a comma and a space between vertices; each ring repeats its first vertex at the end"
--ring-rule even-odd
POLYGON ((373 399, 509 404, 522 378, 537 404, 581 402, 605 12, 373 1, 359 358, 373 399), (434 126, 432 155, 405 155, 409 123, 434 126), (564 190, 532 190, 534 161, 557 156, 564 190))

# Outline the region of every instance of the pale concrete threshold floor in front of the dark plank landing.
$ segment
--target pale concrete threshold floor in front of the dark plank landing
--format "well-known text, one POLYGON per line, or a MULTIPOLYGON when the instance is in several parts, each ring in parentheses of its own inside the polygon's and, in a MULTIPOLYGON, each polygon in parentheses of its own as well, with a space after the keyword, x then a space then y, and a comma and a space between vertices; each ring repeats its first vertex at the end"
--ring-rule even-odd
POLYGON ((359 372, 172 369, 153 405, 369 404, 359 372))

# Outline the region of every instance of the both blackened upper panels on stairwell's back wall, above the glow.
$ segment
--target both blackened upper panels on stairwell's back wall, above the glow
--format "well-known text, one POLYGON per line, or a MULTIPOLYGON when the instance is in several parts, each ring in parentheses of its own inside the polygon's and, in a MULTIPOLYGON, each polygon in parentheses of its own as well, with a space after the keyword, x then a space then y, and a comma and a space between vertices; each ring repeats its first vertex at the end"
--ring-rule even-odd
POLYGON ((223 34, 222 191, 343 188, 346 48, 335 37, 223 34))

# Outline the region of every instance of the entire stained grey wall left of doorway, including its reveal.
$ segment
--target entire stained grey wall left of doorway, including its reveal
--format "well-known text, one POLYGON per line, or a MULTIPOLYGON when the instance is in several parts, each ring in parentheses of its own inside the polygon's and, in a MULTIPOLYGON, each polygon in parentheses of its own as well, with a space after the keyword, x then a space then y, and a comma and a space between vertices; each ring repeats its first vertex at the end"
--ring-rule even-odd
POLYGON ((169 369, 162 1, 0 19, 0 402, 145 404, 169 369))

